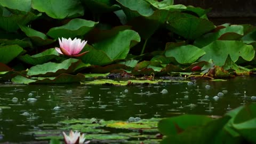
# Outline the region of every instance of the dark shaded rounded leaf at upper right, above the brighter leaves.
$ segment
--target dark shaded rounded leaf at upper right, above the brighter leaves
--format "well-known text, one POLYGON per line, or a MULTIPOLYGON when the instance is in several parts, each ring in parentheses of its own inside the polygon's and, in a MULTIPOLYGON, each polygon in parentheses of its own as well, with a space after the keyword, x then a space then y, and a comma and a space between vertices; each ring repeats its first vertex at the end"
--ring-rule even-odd
POLYGON ((166 27, 182 37, 196 39, 214 29, 215 26, 206 19, 174 11, 167 21, 166 27))

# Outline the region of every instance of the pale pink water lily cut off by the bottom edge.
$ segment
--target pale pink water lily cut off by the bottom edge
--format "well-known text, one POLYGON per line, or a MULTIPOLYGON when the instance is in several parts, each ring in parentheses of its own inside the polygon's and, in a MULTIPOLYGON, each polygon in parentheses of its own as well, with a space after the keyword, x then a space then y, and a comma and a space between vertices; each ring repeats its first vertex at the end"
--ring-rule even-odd
POLYGON ((84 133, 81 135, 80 132, 73 132, 72 130, 67 135, 65 132, 62 132, 64 135, 64 140, 66 144, 80 144, 80 143, 89 143, 90 141, 85 141, 84 133))

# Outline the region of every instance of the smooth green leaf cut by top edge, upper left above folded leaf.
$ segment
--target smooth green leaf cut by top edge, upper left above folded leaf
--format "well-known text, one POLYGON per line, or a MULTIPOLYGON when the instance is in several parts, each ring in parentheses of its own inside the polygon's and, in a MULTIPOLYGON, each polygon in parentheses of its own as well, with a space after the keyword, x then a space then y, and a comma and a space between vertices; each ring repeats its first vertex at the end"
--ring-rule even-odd
POLYGON ((79 0, 32 0, 33 9, 45 12, 54 19, 74 18, 84 15, 84 8, 79 0))

